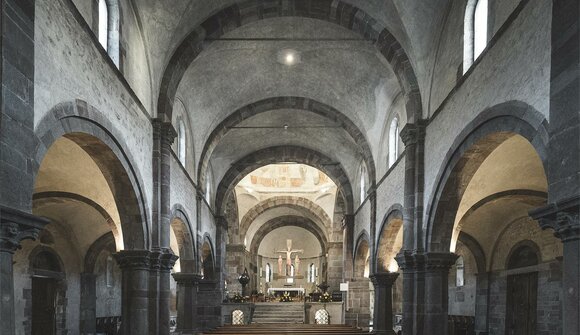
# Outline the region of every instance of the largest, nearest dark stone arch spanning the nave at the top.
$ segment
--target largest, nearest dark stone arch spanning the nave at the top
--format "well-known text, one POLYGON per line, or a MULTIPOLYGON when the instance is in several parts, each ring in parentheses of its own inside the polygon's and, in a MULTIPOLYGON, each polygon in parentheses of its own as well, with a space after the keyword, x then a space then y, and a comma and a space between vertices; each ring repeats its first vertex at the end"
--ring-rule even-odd
POLYGON ((340 0, 289 0, 268 2, 245 0, 224 7, 208 17, 176 47, 161 79, 157 112, 171 120, 172 106, 179 83, 189 65, 212 40, 220 38, 244 24, 273 17, 305 17, 337 24, 372 40, 377 51, 391 64, 405 94, 407 120, 411 123, 422 116, 419 85, 411 61, 397 39, 378 20, 362 9, 340 0), (267 15, 265 12, 267 11, 267 15))

